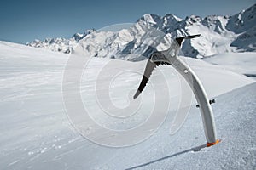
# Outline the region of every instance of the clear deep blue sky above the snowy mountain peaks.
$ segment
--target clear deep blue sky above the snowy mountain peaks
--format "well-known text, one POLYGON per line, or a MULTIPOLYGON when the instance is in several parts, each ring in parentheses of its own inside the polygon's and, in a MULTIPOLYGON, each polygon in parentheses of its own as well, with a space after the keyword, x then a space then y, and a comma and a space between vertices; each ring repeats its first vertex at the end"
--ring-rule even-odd
POLYGON ((231 15, 256 0, 2 0, 0 40, 26 43, 46 37, 69 38, 76 32, 134 23, 143 14, 231 15))

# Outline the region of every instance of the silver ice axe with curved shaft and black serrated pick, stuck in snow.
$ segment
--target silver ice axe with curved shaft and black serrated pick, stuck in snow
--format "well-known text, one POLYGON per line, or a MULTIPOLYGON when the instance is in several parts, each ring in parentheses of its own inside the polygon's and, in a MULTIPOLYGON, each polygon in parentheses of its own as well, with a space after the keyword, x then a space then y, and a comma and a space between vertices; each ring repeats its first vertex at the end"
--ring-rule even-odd
POLYGON ((195 37, 200 37, 200 34, 193 36, 177 37, 175 41, 172 41, 170 48, 164 51, 156 51, 150 55, 143 79, 137 89, 136 94, 134 94, 133 99, 136 99, 139 94, 143 92, 149 77, 151 76, 154 68, 159 65, 172 65, 189 83, 190 88, 192 88, 195 94, 195 99, 200 105, 201 117, 203 121, 204 131, 207 139, 207 146, 217 144, 219 142, 216 139, 215 122, 213 119, 212 106, 209 104, 209 99, 207 93, 202 86, 201 81, 196 76, 195 72, 180 59, 177 54, 182 45, 184 39, 191 39, 195 37))

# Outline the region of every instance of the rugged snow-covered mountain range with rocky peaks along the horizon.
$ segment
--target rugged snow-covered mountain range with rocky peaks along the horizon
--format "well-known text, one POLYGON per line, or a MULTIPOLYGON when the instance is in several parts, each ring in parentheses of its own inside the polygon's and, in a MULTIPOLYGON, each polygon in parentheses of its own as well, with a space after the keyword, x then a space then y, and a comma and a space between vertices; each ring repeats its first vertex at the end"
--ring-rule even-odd
POLYGON ((163 37, 166 42, 161 44, 166 46, 170 37, 191 34, 201 34, 201 37, 183 43, 184 56, 203 58, 227 52, 256 51, 256 4, 232 16, 201 18, 191 15, 180 19, 174 14, 163 17, 145 14, 134 26, 120 31, 86 31, 74 34, 70 39, 47 38, 43 42, 36 40, 26 45, 71 53, 73 47, 79 44, 84 53, 92 56, 137 61, 147 58, 154 51, 148 44, 156 41, 155 38, 166 35, 163 37), (162 35, 158 35, 159 32, 162 35))

